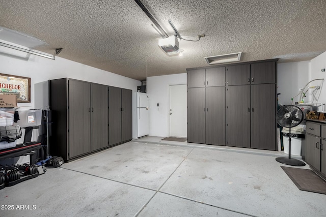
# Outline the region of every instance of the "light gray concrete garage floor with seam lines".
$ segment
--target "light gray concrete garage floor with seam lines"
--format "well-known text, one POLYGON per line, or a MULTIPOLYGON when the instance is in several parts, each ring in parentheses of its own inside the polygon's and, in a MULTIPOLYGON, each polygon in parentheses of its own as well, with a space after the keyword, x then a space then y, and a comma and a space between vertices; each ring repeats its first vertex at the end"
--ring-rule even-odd
POLYGON ((326 195, 298 190, 275 160, 282 152, 160 139, 132 140, 0 190, 0 204, 14 205, 0 216, 326 213, 326 195))

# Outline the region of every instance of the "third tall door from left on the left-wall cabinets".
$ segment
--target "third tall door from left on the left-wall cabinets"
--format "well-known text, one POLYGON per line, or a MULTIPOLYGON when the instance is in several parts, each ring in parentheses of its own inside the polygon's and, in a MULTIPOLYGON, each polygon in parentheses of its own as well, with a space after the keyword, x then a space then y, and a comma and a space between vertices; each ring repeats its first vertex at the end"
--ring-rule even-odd
POLYGON ((121 88, 108 88, 108 144, 115 145, 121 140, 121 88))

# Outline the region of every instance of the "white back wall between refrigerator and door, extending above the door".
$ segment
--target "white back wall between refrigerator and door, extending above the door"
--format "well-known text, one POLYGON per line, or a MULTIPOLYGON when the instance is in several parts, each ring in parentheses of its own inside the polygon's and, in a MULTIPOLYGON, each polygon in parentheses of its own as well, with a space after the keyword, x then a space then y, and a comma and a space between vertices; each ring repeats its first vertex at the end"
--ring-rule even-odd
POLYGON ((169 85, 186 83, 186 73, 148 77, 150 136, 169 136, 169 85), (157 103, 159 107, 156 106, 157 103))

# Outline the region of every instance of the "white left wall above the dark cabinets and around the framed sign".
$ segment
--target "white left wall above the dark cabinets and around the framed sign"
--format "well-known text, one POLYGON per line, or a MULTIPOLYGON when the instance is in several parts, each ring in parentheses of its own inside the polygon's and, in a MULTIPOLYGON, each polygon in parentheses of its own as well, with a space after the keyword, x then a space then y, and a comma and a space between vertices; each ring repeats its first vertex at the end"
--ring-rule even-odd
MULTIPOLYGON (((64 50, 62 51, 64 52, 64 50)), ((59 54, 60 56, 60 54, 59 54)), ((48 105, 47 80, 74 78, 137 91, 140 81, 96 69, 57 56, 56 60, 30 55, 0 46, 0 73, 31 78, 31 103, 18 103, 25 109, 48 105)))

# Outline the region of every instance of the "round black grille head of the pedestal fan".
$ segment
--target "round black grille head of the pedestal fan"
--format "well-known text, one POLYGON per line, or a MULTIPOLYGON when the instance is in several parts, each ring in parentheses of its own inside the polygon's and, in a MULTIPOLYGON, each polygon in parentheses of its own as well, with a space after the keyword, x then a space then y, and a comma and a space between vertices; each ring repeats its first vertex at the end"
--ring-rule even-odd
POLYGON ((281 107, 277 114, 276 120, 281 127, 292 128, 300 125, 304 119, 303 111, 294 105, 281 107))

